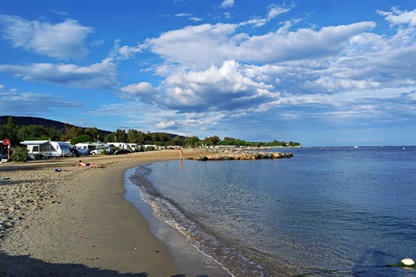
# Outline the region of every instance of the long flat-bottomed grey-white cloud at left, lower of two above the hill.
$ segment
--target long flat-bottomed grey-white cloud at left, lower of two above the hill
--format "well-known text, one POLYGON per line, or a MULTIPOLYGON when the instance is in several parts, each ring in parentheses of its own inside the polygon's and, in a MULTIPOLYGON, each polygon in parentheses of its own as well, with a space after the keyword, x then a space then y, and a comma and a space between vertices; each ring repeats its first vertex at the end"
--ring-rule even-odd
POLYGON ((89 66, 74 64, 33 63, 0 65, 0 72, 9 72, 25 81, 54 83, 80 89, 114 89, 118 85, 116 65, 109 59, 89 66))

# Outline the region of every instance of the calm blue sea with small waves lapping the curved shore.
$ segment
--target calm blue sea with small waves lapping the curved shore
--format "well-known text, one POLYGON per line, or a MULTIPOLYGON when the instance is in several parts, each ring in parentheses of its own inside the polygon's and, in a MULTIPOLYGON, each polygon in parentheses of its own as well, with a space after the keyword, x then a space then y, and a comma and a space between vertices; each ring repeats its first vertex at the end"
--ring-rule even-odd
POLYGON ((156 162, 128 194, 230 276, 416 276, 416 147, 270 151, 293 158, 156 162))

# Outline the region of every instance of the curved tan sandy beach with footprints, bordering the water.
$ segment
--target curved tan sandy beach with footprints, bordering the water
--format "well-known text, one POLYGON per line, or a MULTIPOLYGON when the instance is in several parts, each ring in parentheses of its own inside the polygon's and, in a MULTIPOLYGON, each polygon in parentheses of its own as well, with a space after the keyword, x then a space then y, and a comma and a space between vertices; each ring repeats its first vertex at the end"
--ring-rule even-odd
POLYGON ((74 167, 80 158, 0 164, 0 276, 211 275, 195 264, 178 270, 124 198, 128 168, 177 158, 162 150, 82 158, 103 168, 74 167))

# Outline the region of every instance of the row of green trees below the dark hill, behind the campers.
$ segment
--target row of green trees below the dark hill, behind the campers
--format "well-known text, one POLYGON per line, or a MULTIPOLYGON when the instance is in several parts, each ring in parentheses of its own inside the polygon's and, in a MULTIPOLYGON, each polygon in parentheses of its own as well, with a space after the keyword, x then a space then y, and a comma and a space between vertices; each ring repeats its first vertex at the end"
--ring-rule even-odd
POLYGON ((103 132, 97 128, 80 128, 66 124, 65 129, 46 128, 42 125, 18 126, 13 117, 9 117, 5 124, 0 125, 0 139, 10 139, 12 146, 18 145, 24 140, 60 140, 71 141, 71 144, 79 142, 127 142, 138 145, 157 146, 250 146, 250 147, 296 147, 298 142, 285 142, 277 139, 271 142, 252 142, 242 139, 218 136, 199 139, 198 137, 184 137, 165 132, 142 132, 137 129, 117 129, 114 132, 103 132))

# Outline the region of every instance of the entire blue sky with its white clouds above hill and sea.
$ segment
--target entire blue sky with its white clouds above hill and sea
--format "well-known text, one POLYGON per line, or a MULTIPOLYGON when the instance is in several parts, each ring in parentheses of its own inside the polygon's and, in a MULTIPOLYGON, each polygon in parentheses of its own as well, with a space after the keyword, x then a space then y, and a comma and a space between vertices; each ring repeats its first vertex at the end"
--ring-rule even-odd
POLYGON ((414 0, 2 0, 1 115, 415 145, 414 0))

